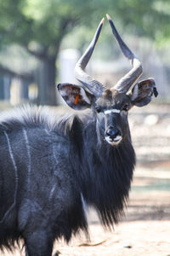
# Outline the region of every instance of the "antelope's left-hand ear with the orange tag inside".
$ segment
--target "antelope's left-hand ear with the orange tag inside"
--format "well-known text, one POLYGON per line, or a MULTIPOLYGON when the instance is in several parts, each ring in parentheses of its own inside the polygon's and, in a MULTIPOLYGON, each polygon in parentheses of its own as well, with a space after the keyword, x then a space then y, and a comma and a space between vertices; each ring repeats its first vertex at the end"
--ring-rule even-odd
POLYGON ((76 84, 58 84, 59 94, 63 97, 65 102, 76 110, 90 108, 92 104, 93 95, 81 85, 76 84))

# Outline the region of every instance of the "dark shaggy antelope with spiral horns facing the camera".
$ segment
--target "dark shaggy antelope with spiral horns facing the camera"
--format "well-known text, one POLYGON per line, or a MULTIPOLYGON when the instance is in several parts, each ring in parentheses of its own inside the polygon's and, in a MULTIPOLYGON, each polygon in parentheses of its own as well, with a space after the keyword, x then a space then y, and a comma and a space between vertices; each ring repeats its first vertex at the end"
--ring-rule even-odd
POLYGON ((135 164, 127 113, 157 93, 154 79, 132 86, 142 74, 141 63, 107 18, 131 71, 111 89, 84 72, 102 20, 75 68, 82 85, 58 85, 71 108, 90 108, 89 113, 59 117, 26 107, 1 116, 1 248, 21 238, 27 256, 50 256, 55 239, 69 241, 79 230, 88 235, 84 202, 106 227, 123 212, 135 164))

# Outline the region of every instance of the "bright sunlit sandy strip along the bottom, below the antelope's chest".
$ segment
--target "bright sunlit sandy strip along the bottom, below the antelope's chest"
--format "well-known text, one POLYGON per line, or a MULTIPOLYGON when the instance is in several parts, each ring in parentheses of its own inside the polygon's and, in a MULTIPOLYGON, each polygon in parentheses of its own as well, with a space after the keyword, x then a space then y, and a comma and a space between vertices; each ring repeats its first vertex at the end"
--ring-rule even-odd
POLYGON ((74 241, 70 247, 58 245, 61 255, 84 256, 167 256, 170 255, 170 223, 167 221, 128 222, 111 233, 91 226, 91 243, 74 241))

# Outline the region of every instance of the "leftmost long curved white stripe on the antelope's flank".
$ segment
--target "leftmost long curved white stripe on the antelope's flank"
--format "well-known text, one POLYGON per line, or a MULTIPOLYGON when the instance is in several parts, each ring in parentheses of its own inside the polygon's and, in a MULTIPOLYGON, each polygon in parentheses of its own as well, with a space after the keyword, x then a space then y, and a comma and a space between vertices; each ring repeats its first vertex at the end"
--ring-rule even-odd
POLYGON ((15 163, 15 160, 14 160, 14 154, 13 154, 13 151, 12 151, 12 148, 11 148, 11 145, 10 145, 10 142, 9 142, 9 138, 8 138, 8 134, 6 133, 6 131, 3 131, 4 132, 4 135, 7 139, 7 143, 8 143, 8 152, 10 154, 10 158, 11 158, 11 161, 13 163, 13 166, 14 166, 14 176, 15 176, 15 189, 14 189, 14 202, 13 204, 8 208, 8 211, 5 212, 3 218, 1 219, 0 223, 3 223, 4 219, 6 218, 8 212, 10 212, 12 210, 12 208, 14 207, 14 205, 16 204, 16 195, 17 195, 17 191, 18 191, 18 183, 19 183, 19 177, 18 177, 18 169, 17 169, 17 166, 16 166, 16 163, 15 163))

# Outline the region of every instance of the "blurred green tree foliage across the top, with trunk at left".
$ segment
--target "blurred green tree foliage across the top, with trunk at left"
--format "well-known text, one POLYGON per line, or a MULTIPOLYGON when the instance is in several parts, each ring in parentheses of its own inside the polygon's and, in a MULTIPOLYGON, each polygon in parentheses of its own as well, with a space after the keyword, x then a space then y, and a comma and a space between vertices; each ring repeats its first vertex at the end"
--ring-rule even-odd
POLYGON ((39 103, 54 105, 59 47, 75 26, 90 31, 108 12, 127 29, 130 24, 129 32, 161 40, 169 38, 167 10, 168 0, 0 0, 0 46, 20 44, 40 60, 39 103))

